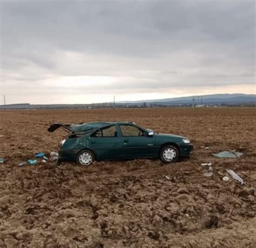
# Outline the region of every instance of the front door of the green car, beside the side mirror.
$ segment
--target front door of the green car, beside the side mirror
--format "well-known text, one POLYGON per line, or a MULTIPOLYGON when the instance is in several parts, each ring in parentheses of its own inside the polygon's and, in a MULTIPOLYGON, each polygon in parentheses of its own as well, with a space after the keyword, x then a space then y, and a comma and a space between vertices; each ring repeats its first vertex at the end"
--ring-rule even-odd
POLYGON ((133 124, 119 124, 122 136, 122 156, 124 158, 152 158, 157 156, 154 136, 133 124))

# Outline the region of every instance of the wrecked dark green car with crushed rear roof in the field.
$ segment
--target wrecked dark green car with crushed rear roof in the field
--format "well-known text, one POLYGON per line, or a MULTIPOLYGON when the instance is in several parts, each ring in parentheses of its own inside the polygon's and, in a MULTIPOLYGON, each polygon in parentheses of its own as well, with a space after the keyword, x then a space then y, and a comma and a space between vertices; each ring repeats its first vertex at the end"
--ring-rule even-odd
POLYGON ((189 157, 193 150, 185 137, 156 133, 131 122, 55 123, 48 131, 59 127, 70 133, 61 142, 59 162, 73 160, 90 165, 95 160, 160 158, 167 164, 189 157))

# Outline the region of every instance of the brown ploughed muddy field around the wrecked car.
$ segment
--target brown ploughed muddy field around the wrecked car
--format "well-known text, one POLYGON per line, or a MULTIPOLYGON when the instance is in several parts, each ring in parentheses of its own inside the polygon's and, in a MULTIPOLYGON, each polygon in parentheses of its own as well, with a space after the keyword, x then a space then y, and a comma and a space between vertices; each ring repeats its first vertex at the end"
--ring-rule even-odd
POLYGON ((0 111, 0 146, 0 247, 255 247, 255 108, 0 111), (58 151, 66 133, 49 133, 50 124, 91 121, 180 134, 194 152, 173 165, 18 166, 58 151), (244 155, 211 155, 223 150, 244 155), (223 181, 228 168, 246 184, 223 181))

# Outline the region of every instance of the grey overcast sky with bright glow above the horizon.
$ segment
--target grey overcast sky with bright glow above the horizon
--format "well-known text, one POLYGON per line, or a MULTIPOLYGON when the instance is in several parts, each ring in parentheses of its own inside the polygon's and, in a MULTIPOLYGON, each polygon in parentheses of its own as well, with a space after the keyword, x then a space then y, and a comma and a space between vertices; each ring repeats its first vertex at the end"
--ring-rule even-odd
POLYGON ((0 104, 255 94, 255 1, 0 2, 0 104))

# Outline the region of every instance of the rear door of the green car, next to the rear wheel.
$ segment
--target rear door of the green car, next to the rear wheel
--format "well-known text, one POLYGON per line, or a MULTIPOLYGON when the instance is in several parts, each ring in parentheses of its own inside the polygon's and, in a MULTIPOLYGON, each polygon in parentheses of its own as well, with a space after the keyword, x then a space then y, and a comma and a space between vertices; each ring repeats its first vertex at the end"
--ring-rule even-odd
POLYGON ((98 129, 89 138, 89 147, 96 152, 97 159, 116 159, 122 148, 116 125, 98 129))

